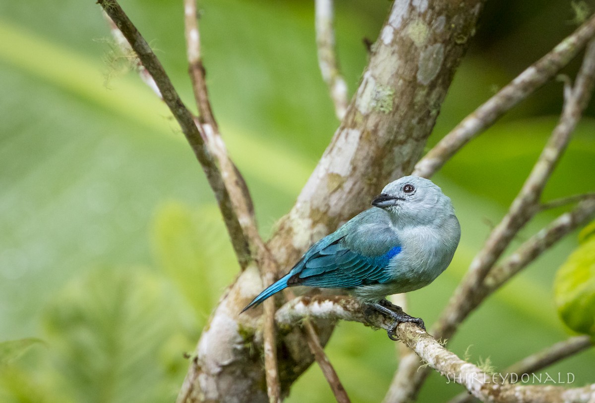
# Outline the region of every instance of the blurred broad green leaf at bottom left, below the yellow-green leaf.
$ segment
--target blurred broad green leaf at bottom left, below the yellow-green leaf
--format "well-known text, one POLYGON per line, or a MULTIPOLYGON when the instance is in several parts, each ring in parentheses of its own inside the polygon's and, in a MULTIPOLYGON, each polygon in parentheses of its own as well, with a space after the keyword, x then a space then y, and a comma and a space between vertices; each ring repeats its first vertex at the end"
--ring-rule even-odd
POLYGON ((43 318, 57 391, 84 402, 172 401, 197 336, 176 297, 164 279, 130 267, 70 282, 43 318))

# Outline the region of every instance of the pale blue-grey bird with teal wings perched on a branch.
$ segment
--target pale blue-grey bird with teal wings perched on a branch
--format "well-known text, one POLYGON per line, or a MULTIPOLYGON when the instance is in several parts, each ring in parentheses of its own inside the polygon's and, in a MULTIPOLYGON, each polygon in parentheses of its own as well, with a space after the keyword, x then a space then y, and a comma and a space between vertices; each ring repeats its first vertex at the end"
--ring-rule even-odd
POLYGON ((414 175, 387 184, 372 202, 332 234, 313 244, 289 273, 264 289, 242 312, 284 288, 344 288, 361 303, 393 319, 387 332, 412 317, 386 300, 434 281, 450 265, 461 226, 450 198, 434 182, 414 175))

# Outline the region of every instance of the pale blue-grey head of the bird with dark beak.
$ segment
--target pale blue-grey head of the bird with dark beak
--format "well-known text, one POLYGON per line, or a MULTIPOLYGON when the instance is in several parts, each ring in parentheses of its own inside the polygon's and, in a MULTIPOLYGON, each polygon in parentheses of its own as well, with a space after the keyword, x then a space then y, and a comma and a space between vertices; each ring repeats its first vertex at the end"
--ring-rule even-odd
POLYGON ((406 218, 412 223, 433 222, 454 213, 449 197, 439 187, 412 175, 386 185, 372 200, 372 206, 386 210, 394 219, 406 218))

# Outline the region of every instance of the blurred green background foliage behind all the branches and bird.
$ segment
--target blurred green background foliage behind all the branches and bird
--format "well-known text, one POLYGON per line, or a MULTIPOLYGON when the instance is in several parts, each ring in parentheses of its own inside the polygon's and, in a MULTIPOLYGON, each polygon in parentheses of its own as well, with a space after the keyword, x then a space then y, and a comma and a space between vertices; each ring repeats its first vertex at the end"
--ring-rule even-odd
MULTIPOLYGON (((390 3, 336 2, 351 92, 390 3)), ((593 9, 592 2, 587 3, 593 9)), ((122 3, 192 105, 180 1, 122 3)), ((268 234, 337 127, 318 71, 311 1, 204 0, 209 93, 231 156, 268 234)), ((574 29, 570 2, 487 2, 428 147, 574 29)), ((202 325, 235 273, 214 197, 154 94, 106 62, 93 1, 0 2, 0 401, 172 401, 202 325), (109 79, 108 79, 109 78, 109 79), (37 342, 41 339, 44 342, 37 342)), ((577 61, 566 74, 574 74, 577 61)), ((505 212, 554 127, 562 85, 547 84, 453 158, 436 182, 462 240, 449 270, 411 295, 431 324, 505 212)), ((593 191, 591 105, 544 199, 593 191)), ((516 244, 560 209, 544 212, 516 244)), ((449 347, 497 368, 565 338, 552 281, 568 237, 506 284, 449 347)), ((380 401, 397 365, 383 332, 340 323, 327 347, 354 402, 380 401)), ((595 381, 592 351, 548 371, 595 381)), ((433 373, 420 401, 461 391, 433 373)), ((332 401, 312 366, 289 401, 332 401)))

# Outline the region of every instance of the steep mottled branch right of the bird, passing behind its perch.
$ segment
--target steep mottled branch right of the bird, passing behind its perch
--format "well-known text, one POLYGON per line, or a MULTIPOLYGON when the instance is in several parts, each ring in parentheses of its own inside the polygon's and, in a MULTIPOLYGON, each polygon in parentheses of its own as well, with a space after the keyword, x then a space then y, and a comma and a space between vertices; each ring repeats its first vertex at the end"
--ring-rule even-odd
MULTIPOLYGON (((437 324, 433 327, 433 332, 437 337, 451 338, 462 320, 487 295, 483 286, 484 279, 519 229, 537 212, 540 194, 547 178, 552 173, 590 99, 594 77, 595 41, 591 40, 587 46, 574 88, 565 91, 567 96, 565 96, 558 125, 553 130, 552 136, 521 191, 511 204, 509 212, 493 229, 486 244, 471 262, 467 275, 459 284, 437 324)), ((592 206, 588 202, 583 202, 581 205, 584 207, 585 203, 587 203, 587 207, 585 207, 587 209, 590 208, 588 206, 592 206)), ((428 374, 425 369, 417 371, 418 366, 419 363, 414 360, 402 361, 399 364, 399 370, 393 379, 386 401, 405 402, 417 395, 428 374)))

